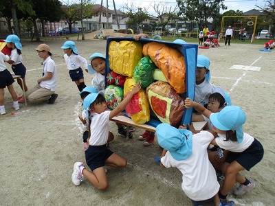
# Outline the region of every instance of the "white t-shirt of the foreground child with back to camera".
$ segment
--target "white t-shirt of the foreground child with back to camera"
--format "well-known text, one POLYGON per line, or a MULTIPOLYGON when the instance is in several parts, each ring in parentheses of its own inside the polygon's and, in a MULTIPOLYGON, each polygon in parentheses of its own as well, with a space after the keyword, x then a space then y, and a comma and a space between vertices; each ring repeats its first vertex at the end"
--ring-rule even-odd
POLYGON ((175 160, 170 152, 162 157, 166 168, 178 168, 182 173, 181 187, 193 201, 212 198, 219 191, 216 172, 208 159, 207 147, 214 136, 208 131, 192 135, 192 155, 182 161, 175 160))

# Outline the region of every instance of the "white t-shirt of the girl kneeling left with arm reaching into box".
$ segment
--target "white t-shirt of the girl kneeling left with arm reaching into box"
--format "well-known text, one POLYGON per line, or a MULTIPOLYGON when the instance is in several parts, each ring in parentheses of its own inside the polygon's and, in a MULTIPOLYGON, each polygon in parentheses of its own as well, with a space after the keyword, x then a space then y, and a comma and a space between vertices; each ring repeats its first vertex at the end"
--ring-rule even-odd
POLYGON ((107 144, 109 136, 109 115, 111 111, 103 113, 91 113, 91 146, 101 146, 107 144))

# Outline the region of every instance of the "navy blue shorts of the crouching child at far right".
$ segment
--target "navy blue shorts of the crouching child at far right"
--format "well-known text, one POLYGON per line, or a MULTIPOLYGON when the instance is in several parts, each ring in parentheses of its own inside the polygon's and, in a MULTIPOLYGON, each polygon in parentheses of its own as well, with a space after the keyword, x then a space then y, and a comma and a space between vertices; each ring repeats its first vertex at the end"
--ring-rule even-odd
POLYGON ((260 141, 254 139, 252 144, 243 152, 228 152, 225 162, 237 161, 245 170, 250 170, 256 163, 263 159, 263 146, 260 141))

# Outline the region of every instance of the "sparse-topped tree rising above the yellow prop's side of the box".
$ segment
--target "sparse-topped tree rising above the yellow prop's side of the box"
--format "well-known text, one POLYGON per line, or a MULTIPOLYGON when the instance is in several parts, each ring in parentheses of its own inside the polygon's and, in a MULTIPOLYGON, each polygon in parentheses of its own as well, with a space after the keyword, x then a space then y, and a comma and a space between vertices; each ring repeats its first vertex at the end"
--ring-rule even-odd
POLYGON ((149 19, 150 16, 146 8, 137 8, 133 3, 131 5, 125 4, 122 8, 126 10, 125 14, 129 17, 129 21, 126 24, 136 32, 142 30, 142 24, 146 19, 149 19))

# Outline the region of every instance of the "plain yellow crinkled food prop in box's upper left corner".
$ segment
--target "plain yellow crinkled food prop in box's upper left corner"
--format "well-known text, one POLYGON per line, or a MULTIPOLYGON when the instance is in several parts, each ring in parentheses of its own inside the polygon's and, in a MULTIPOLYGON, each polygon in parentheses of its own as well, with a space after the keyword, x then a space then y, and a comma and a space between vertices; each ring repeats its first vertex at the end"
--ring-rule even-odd
POLYGON ((111 41, 108 54, 112 71, 133 77, 133 69, 142 58, 142 44, 133 41, 111 41))

